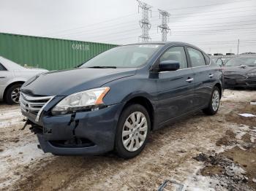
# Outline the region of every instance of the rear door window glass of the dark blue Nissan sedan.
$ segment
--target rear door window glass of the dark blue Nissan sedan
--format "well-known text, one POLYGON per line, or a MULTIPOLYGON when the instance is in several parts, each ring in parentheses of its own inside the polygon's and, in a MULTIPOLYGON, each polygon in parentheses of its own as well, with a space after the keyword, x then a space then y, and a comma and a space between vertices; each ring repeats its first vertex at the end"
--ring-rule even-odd
POLYGON ((190 58, 192 67, 206 66, 206 61, 205 61, 205 58, 203 58, 202 52, 191 47, 188 47, 187 50, 189 52, 189 58, 190 58))

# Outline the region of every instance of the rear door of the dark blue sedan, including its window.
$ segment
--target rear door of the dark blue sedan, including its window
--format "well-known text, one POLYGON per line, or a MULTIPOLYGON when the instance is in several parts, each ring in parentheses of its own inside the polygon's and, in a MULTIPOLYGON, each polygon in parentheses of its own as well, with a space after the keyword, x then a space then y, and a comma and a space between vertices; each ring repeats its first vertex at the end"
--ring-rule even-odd
POLYGON ((211 98, 212 83, 215 80, 214 71, 206 64, 203 52, 192 47, 187 47, 187 53, 195 74, 195 97, 193 103, 195 109, 200 109, 206 107, 211 98))

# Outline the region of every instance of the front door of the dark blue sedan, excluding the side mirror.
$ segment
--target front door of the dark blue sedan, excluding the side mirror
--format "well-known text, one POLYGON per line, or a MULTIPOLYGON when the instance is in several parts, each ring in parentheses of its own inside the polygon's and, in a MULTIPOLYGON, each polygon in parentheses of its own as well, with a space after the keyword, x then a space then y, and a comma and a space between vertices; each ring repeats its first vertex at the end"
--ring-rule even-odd
POLYGON ((160 71, 157 80, 159 122, 165 122, 192 110, 193 71, 188 67, 184 47, 170 47, 160 58, 161 61, 178 61, 177 71, 160 71))

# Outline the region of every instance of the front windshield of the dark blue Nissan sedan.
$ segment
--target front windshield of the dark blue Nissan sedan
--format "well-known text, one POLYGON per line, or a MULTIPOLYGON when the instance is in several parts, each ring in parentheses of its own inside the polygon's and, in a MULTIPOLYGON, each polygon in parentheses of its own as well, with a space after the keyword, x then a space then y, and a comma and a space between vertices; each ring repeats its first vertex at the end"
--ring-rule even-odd
POLYGON ((91 60, 80 68, 137 68, 143 66, 162 44, 134 44, 115 47, 91 60))

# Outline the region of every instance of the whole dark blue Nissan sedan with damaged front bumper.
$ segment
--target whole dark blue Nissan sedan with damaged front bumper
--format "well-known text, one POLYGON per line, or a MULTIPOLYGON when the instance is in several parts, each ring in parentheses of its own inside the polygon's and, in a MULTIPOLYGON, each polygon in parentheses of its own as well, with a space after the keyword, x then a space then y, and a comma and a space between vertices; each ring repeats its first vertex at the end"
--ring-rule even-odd
POLYGON ((115 150, 131 158, 143 150, 151 130, 199 110, 216 114, 222 84, 220 67, 191 44, 129 44, 78 69, 29 79, 20 106, 44 152, 115 150))

